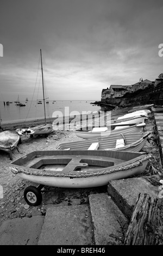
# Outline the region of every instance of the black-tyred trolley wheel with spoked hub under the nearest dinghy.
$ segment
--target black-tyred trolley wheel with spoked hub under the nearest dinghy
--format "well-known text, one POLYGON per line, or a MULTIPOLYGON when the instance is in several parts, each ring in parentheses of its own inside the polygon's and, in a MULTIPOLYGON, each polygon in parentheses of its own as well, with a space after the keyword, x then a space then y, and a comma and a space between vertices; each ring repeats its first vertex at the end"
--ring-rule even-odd
POLYGON ((41 191, 37 187, 29 186, 24 190, 24 199, 29 205, 40 205, 42 202, 41 191))

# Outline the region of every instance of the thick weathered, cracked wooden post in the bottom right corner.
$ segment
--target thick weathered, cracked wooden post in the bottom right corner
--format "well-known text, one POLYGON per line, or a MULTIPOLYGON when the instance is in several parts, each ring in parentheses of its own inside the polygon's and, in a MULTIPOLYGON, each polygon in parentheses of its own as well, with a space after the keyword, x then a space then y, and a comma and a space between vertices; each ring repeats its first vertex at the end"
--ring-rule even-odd
POLYGON ((163 201, 149 194, 139 194, 124 245, 163 244, 163 201))

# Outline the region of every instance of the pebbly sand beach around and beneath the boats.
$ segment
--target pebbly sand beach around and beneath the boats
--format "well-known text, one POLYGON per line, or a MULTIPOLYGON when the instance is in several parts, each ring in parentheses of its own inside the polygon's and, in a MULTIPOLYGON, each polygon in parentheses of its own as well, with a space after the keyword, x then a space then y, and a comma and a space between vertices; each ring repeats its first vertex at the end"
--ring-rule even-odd
MULTIPOLYGON (((127 113, 128 108, 116 108, 111 112, 111 118, 116 119, 123 114, 127 113)), ((110 112, 108 113, 110 114, 110 112)), ((86 117, 85 117, 86 118, 86 117)), ((99 115, 95 117, 95 124, 98 122, 99 115)), ((151 132, 151 144, 147 142, 145 148, 142 151, 153 154, 153 163, 148 164, 146 169, 146 175, 151 176, 152 174, 157 174, 160 169, 159 163, 159 151, 158 145, 154 143, 154 134, 153 134, 153 114, 146 121, 147 131, 151 132), (152 144, 153 143, 153 144, 152 144), (152 164, 152 167, 151 167, 152 164)), ((40 124, 40 120, 37 121, 37 124, 40 124)), ((15 131, 15 128, 20 127, 22 124, 19 123, 16 126, 5 126, 3 129, 9 129, 15 131)), ((31 124, 35 125, 35 124, 31 124)), ((80 126, 80 118, 76 119, 77 128, 80 126)), ((37 136, 30 138, 27 135, 21 137, 22 143, 18 145, 18 150, 14 149, 12 153, 13 160, 16 160, 32 151, 35 150, 55 150, 59 143, 61 142, 70 142, 82 140, 78 138, 73 130, 68 130, 68 124, 66 124, 65 130, 56 130, 53 131, 48 137, 37 136)), ((106 186, 96 187, 96 188, 81 188, 75 190, 68 190, 65 188, 51 187, 49 188, 51 192, 43 193, 43 200, 39 206, 29 206, 23 198, 24 189, 32 184, 27 180, 22 180, 15 177, 9 170, 10 163, 12 162, 9 159, 7 153, 1 152, 0 155, 1 167, 0 167, 0 180, 1 185, 4 190, 4 197, 0 200, 0 226, 1 224, 8 219, 12 218, 23 218, 23 217, 32 217, 32 216, 45 216, 46 209, 49 204, 56 205, 73 205, 73 204, 87 204, 88 195, 96 193, 105 193, 106 186)), ((161 171, 160 171, 161 172, 161 171)))

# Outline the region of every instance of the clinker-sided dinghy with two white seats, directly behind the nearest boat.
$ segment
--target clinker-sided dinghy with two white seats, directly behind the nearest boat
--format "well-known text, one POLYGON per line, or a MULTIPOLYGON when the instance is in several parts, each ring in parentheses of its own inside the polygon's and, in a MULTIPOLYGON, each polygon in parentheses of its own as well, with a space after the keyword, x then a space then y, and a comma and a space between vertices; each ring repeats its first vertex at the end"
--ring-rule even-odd
POLYGON ((83 141, 65 142, 58 145, 61 150, 122 150, 139 152, 146 144, 151 133, 120 133, 109 137, 84 139, 83 141))

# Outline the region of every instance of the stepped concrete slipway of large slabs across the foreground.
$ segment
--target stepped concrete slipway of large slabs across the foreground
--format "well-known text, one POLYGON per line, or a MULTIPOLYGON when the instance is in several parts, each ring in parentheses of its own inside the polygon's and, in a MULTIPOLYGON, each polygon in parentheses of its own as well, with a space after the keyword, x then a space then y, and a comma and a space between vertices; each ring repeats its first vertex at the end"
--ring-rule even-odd
MULTIPOLYGON (((161 113, 155 113, 162 161, 161 113)), ((153 133, 153 123, 147 121, 153 133)), ((144 150, 151 152, 148 142, 144 150)), ((112 180, 105 192, 89 194, 86 204, 74 199, 71 205, 49 204, 45 216, 14 218, 0 227, 0 245, 122 245, 139 193, 158 197, 158 186, 149 176, 112 180)), ((159 175, 153 178, 159 181, 159 175)))

